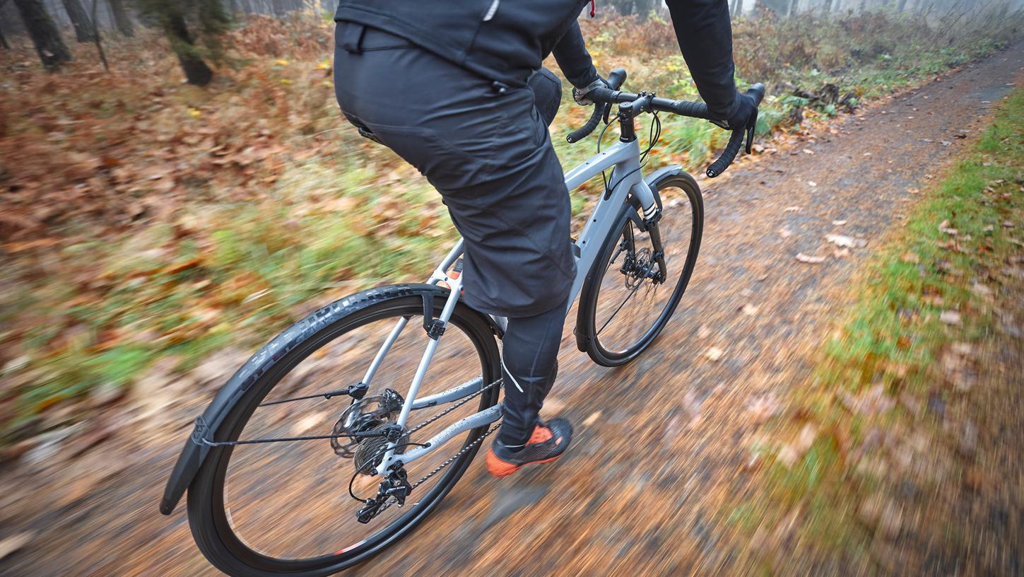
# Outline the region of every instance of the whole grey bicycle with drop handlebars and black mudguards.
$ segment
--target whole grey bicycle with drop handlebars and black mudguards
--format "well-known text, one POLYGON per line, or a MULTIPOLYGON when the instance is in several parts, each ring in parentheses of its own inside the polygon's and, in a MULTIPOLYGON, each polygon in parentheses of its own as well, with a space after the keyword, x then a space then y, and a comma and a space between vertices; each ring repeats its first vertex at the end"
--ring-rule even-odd
MULTIPOLYGON (((604 178, 604 193, 573 241, 580 273, 569 305, 581 296, 578 348, 606 367, 636 359, 665 328, 693 273, 703 225, 700 191, 689 174, 667 166, 644 178, 641 169, 659 135, 658 112, 708 119, 707 107, 620 91, 625 80, 626 72, 616 69, 609 88, 589 93, 594 113, 567 136, 579 141, 602 118, 605 129, 614 121, 620 125, 616 142, 565 173, 569 190, 599 174, 604 178), (609 119, 612 105, 618 109, 609 119), (653 116, 652 132, 641 152, 633 121, 644 113, 653 116), (620 315, 638 294, 632 315, 620 315)), ((764 87, 755 85, 748 93, 760 102, 764 87)), ((734 131, 709 176, 728 167, 744 133, 750 152, 753 128, 734 131)), ((426 283, 358 292, 295 323, 253 355, 196 419, 160 509, 170 514, 188 490, 193 536, 215 567, 247 577, 338 572, 408 535, 465 473, 500 423, 497 339, 506 320, 460 302, 462 246, 460 239, 426 283), (425 348, 419 331, 407 330, 420 326, 425 348), (415 335, 407 338, 411 332, 415 335), (351 362, 336 362, 339 358, 351 362), (426 379, 431 367, 442 378, 426 379), (398 381, 410 382, 404 397, 391 386, 398 381), (332 403, 336 399, 351 403, 339 406, 332 403), (312 402, 329 405, 311 409, 312 402), (443 408, 408 424, 414 411, 435 407, 443 408), (332 421, 329 435, 305 435, 332 421), (462 442, 454 454, 438 451, 456 438, 462 442), (282 445, 290 450, 269 452, 282 445), (351 469, 341 472, 339 458, 351 460, 351 469), (298 462, 302 472, 289 477, 298 462), (274 464, 284 471, 271 473, 274 464), (422 477, 411 478, 411 465, 422 477), (247 469, 257 475, 248 481, 234 476, 247 469), (348 496, 361 502, 356 524, 341 523, 341 516, 351 514, 338 498, 346 483, 348 496), (317 498, 302 508, 290 500, 258 500, 278 487, 317 498), (365 497, 357 494, 367 489, 365 497), (411 501, 414 495, 419 500, 411 501), (342 525, 345 532, 339 535, 342 525), (317 529, 326 534, 313 534, 317 529)))

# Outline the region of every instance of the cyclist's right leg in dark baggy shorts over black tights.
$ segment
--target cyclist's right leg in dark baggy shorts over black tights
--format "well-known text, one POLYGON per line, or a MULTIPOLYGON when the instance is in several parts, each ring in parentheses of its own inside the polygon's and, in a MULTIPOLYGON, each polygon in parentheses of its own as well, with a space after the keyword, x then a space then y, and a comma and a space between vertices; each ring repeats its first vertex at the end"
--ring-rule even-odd
MULTIPOLYGON (((557 83, 548 73, 529 85, 499 86, 400 38, 350 26, 338 26, 338 101, 441 194, 465 240, 463 300, 510 319, 511 416, 499 437, 530 437, 575 277, 568 191, 546 124, 557 111, 557 83)), ((568 445, 567 421, 548 424, 547 435, 558 436, 546 447, 557 447, 524 462, 548 460, 568 445)), ((536 455, 538 447, 522 453, 536 455)))

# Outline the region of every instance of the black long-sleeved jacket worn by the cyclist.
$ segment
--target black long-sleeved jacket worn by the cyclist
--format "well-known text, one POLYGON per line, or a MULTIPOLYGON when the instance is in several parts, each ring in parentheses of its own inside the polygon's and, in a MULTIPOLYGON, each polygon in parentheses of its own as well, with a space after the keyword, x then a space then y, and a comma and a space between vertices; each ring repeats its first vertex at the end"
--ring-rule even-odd
MULTIPOLYGON (((587 0, 340 0, 336 22, 378 28, 485 78, 524 86, 554 53, 573 86, 596 77, 577 18, 587 0)), ((727 0, 667 0, 700 96, 720 118, 735 106, 727 0)))

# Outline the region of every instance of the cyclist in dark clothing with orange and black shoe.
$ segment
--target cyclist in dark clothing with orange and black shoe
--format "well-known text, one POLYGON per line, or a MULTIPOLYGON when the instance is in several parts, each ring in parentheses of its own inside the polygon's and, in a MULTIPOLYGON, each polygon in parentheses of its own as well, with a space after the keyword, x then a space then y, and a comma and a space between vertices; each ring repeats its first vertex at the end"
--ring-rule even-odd
MULTIPOLYGON (((573 96, 604 86, 577 18, 586 0, 340 0, 335 91, 359 132, 437 189, 465 240, 465 301, 508 318, 503 422, 487 453, 496 477, 554 460, 571 440, 539 412, 575 277, 569 196, 548 133, 561 98, 542 68, 553 53, 573 96)), ((756 106, 736 90, 726 0, 668 0, 676 37, 720 126, 756 106)), ((591 2, 593 15, 593 2, 591 2)))

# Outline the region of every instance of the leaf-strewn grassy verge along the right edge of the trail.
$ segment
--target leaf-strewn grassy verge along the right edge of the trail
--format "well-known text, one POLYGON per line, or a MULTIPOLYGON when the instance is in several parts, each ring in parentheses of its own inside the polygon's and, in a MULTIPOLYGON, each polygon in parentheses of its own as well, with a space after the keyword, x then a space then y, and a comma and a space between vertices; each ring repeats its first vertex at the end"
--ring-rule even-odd
POLYGON ((922 194, 851 286, 812 382, 793 387, 754 449, 765 489, 731 519, 765 571, 830 559, 851 573, 946 573, 946 560, 925 559, 932 550, 982 574, 1011 571, 1011 553, 974 535, 1005 533, 997 504, 1015 497, 972 503, 1019 470, 1002 451, 1020 426, 1024 89, 922 194))

